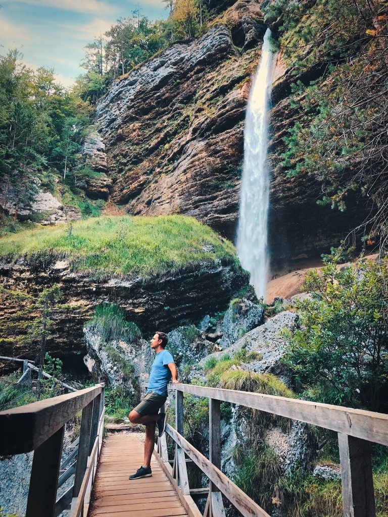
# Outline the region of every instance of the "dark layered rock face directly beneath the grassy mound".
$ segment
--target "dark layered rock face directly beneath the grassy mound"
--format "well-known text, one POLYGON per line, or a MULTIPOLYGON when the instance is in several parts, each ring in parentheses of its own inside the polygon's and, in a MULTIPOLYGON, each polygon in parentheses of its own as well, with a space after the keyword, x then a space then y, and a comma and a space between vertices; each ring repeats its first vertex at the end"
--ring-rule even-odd
MULTIPOLYGON (((57 283, 63 292, 62 307, 54 311, 55 328, 47 349, 63 356, 83 352, 83 327, 91 319, 94 308, 102 302, 115 303, 144 333, 156 329, 169 331, 187 321, 200 320, 207 312, 225 309, 233 293, 247 278, 241 270, 218 263, 198 263, 160 277, 94 278, 74 272, 67 260, 28 263, 24 258, 16 264, 0 264, 2 285, 13 291, 37 297, 44 287, 57 283)), ((0 292, 0 312, 13 314, 27 302, 7 298, 0 292)), ((33 317, 30 315, 28 317, 33 317)), ((28 352, 28 345, 14 340, 14 329, 2 329, 3 355, 28 352), (13 338, 13 339, 11 339, 13 338)))

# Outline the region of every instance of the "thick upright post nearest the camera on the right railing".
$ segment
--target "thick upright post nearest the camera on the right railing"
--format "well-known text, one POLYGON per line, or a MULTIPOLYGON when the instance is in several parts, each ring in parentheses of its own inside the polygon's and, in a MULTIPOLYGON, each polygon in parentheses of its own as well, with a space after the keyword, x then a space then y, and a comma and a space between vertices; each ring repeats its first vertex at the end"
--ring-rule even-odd
POLYGON ((376 517, 370 442, 338 433, 344 517, 376 517))

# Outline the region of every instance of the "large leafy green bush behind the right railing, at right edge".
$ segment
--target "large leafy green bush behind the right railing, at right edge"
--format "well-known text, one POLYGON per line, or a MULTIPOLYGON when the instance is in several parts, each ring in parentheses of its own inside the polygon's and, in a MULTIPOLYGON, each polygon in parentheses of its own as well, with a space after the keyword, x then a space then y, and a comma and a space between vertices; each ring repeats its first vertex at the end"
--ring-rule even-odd
POLYGON ((338 269, 332 256, 305 286, 312 299, 285 356, 296 382, 324 402, 386 412, 388 261, 338 269))

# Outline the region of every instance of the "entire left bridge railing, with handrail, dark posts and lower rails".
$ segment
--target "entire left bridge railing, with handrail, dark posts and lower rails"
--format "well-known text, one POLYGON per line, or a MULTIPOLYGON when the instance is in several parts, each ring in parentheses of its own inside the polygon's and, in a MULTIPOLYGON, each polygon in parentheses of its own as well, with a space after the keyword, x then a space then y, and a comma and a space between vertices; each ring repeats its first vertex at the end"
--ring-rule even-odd
POLYGON ((102 445, 104 385, 0 412, 0 455, 34 451, 26 517, 87 514, 102 445), (80 436, 61 465, 65 424, 82 410, 80 436), (59 486, 73 485, 57 499, 59 486), (85 511, 84 511, 85 510, 85 511))

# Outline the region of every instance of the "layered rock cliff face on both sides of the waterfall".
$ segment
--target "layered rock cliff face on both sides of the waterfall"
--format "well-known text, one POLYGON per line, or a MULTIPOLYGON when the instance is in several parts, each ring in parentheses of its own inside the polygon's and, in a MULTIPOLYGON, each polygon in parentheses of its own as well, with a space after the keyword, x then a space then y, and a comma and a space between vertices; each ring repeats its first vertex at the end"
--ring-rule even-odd
MULTIPOLYGON (((106 144, 111 199, 132 214, 182 213, 231 240, 238 220, 245 108, 266 26, 256 3, 233 4, 207 33, 175 43, 117 80, 97 107, 106 144)), ((363 209, 321 207, 310 178, 286 177, 282 141, 300 116, 290 106, 295 77, 278 59, 272 109, 269 240, 272 269, 294 257, 319 256, 336 245, 363 209)))

